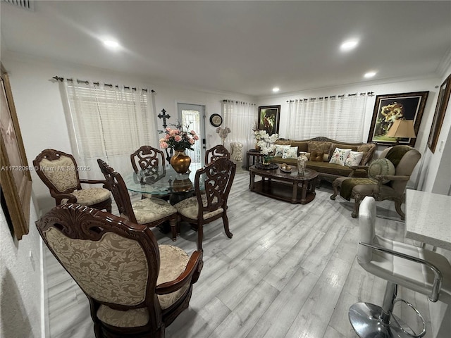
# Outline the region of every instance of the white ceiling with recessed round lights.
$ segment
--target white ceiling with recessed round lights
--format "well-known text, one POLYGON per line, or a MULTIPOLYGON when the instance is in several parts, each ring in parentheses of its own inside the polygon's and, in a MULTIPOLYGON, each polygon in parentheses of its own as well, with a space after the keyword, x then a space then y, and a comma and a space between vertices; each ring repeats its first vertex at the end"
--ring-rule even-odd
POLYGON ((2 53, 253 96, 441 75, 451 1, 1 2, 2 53), (123 46, 111 52, 100 39, 123 46), (354 51, 339 50, 357 37, 354 51))

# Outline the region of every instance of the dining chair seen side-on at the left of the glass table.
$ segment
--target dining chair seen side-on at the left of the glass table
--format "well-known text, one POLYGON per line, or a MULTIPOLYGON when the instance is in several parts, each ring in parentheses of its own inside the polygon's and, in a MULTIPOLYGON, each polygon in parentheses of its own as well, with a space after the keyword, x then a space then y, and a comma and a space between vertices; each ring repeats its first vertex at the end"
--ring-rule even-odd
POLYGON ((132 204, 121 174, 100 158, 97 159, 97 163, 108 182, 121 217, 148 227, 156 227, 168 220, 171 225, 172 240, 177 240, 177 210, 171 204, 162 199, 153 198, 141 199, 132 204))

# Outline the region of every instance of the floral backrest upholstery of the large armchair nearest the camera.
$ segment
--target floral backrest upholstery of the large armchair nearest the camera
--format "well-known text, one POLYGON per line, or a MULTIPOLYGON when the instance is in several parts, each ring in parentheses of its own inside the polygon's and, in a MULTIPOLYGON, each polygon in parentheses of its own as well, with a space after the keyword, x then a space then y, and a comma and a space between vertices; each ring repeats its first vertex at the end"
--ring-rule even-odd
POLYGON ((138 242, 113 232, 101 237, 101 245, 88 239, 71 239, 54 227, 44 234, 61 263, 87 294, 99 301, 124 305, 144 301, 147 261, 138 242))

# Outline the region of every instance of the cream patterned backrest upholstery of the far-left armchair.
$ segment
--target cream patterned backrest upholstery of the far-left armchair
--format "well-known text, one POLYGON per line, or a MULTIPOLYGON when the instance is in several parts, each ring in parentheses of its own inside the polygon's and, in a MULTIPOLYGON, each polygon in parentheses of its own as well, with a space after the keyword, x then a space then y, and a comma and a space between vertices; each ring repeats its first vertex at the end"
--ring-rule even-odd
POLYGON ((78 186, 75 163, 68 156, 61 156, 54 161, 43 158, 39 167, 58 192, 65 192, 78 186))

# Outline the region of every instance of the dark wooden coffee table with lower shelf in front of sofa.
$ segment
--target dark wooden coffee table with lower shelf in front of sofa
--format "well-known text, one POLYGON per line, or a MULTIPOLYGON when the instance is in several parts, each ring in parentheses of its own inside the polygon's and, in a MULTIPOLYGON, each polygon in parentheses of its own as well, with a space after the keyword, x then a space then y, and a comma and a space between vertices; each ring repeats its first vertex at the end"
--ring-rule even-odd
POLYGON ((292 204, 307 204, 314 200, 316 192, 316 178, 318 173, 312 169, 306 169, 304 175, 297 174, 297 168, 293 167, 291 173, 285 173, 280 168, 266 169, 252 165, 249 168, 249 189, 264 196, 288 201, 292 204), (261 180, 255 182, 255 176, 261 180))

